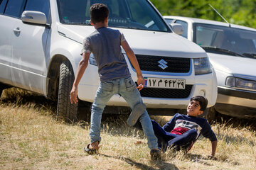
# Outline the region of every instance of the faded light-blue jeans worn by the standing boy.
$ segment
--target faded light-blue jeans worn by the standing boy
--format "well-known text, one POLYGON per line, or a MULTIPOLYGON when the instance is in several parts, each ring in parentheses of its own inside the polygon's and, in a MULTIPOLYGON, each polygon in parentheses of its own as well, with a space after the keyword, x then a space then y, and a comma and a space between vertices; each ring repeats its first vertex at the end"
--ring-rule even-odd
MULTIPOLYGON (((100 82, 99 89, 97 90, 97 94, 95 96, 95 101, 92 104, 90 127, 91 142, 101 140, 100 123, 102 112, 107 102, 114 94, 121 95, 132 109, 138 103, 142 103, 142 97, 140 96, 139 91, 137 90, 131 77, 100 82)), ((157 148, 157 138, 154 135, 152 123, 146 110, 139 117, 139 122, 142 124, 142 129, 147 137, 149 148, 157 148)))

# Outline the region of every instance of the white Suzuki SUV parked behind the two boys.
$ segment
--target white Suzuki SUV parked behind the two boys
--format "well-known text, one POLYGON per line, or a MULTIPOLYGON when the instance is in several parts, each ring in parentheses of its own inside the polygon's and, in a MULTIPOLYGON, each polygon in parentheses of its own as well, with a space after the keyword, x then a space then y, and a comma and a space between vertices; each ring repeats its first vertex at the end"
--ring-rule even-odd
MULTIPOLYGON (((70 88, 81 59, 82 40, 95 30, 90 26, 89 10, 96 2, 110 8, 110 28, 124 33, 137 56, 147 80, 141 95, 149 110, 184 109, 196 95, 206 96, 208 107, 215 104, 217 81, 206 52, 172 33, 159 11, 146 0, 0 1, 0 91, 9 85, 56 98, 57 115, 76 119, 78 106, 70 104, 70 88)), ((122 52, 136 81, 136 72, 122 52)), ((78 86, 80 101, 92 103, 98 85, 91 55, 78 86)), ((127 103, 116 95, 107 105, 127 103)))

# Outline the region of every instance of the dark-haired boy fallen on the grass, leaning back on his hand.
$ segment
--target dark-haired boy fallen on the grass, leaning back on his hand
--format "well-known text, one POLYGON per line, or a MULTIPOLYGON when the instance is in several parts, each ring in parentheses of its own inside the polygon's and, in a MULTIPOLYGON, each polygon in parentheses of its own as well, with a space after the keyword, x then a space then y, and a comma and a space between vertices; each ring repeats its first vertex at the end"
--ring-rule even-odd
POLYGON ((202 134, 211 141, 212 151, 208 157, 213 158, 217 147, 217 137, 207 120, 205 118, 198 118, 206 110, 207 104, 206 98, 195 96, 191 98, 188 104, 187 115, 176 113, 163 127, 156 123, 156 121, 151 120, 158 139, 159 149, 164 151, 167 148, 185 149, 188 152, 202 134))

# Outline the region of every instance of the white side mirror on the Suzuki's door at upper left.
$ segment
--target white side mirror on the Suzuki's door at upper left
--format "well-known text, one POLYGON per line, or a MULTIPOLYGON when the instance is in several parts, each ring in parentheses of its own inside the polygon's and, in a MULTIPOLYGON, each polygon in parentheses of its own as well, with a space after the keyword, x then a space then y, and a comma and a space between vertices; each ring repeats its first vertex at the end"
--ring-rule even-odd
POLYGON ((46 25, 46 14, 39 11, 23 11, 21 21, 23 23, 46 25))

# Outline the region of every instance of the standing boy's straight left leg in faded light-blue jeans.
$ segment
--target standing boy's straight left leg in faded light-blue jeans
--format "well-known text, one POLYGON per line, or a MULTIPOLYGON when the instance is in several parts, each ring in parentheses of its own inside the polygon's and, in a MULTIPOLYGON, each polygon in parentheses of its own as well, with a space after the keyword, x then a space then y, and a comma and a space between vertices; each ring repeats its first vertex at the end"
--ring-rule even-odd
POLYGON ((114 94, 114 83, 112 81, 100 82, 97 90, 95 100, 92 104, 91 123, 90 123, 90 140, 96 142, 101 140, 100 137, 100 123, 102 112, 106 106, 107 101, 114 94))

